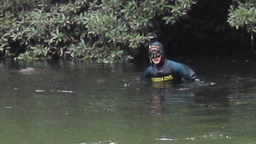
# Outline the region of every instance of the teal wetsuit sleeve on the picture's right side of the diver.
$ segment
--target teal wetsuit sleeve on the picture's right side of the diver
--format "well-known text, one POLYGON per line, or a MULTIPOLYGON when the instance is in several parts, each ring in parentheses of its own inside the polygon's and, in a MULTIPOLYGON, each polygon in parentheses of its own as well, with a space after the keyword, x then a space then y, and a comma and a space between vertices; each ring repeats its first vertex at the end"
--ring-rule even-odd
POLYGON ((183 64, 178 63, 176 65, 176 73, 180 77, 183 77, 184 79, 186 79, 188 81, 195 81, 195 79, 198 79, 198 77, 195 75, 195 72, 190 67, 183 65, 183 64))

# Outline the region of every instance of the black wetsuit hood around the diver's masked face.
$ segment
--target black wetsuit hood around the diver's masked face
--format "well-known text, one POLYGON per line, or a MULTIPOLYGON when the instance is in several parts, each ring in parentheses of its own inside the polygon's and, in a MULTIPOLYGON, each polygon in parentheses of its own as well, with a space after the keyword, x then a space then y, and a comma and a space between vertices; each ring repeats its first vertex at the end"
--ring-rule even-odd
POLYGON ((148 50, 148 54, 149 54, 149 60, 150 60, 150 64, 151 66, 153 66, 157 71, 161 71, 163 65, 166 63, 166 56, 164 53, 164 47, 163 44, 161 44, 160 42, 153 42, 150 46, 149 46, 149 50, 148 50), (154 62, 152 61, 150 55, 153 52, 159 51, 160 54, 162 55, 161 57, 161 61, 159 64, 154 64, 154 62))

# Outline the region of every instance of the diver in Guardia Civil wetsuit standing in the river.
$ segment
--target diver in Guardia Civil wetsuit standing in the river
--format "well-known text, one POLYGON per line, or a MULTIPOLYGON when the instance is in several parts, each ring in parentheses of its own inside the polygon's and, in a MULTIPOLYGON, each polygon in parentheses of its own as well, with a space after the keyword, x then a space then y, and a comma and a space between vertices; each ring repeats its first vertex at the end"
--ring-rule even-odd
POLYGON ((190 67, 166 59, 164 47, 160 42, 153 42, 148 49, 148 57, 151 66, 141 75, 141 80, 152 80, 154 82, 174 81, 179 84, 182 78, 187 81, 198 81, 200 79, 190 67))

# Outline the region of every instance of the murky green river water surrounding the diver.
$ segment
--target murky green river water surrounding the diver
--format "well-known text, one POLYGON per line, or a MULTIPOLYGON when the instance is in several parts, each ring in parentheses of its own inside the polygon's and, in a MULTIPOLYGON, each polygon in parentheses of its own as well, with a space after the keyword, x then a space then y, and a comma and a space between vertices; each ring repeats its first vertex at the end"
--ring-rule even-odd
POLYGON ((141 64, 1 61, 0 144, 256 143, 256 62, 185 63, 205 82, 141 83, 141 64))

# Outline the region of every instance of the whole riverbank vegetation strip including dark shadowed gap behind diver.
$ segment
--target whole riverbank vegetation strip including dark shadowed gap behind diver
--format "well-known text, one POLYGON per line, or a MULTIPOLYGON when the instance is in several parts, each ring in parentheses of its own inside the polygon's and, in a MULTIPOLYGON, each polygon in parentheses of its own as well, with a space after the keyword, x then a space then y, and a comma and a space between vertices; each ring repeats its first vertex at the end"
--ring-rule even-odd
POLYGON ((256 56, 255 8, 253 0, 2 0, 0 57, 109 63, 142 57, 154 40, 172 57, 241 55, 247 43, 256 56))

